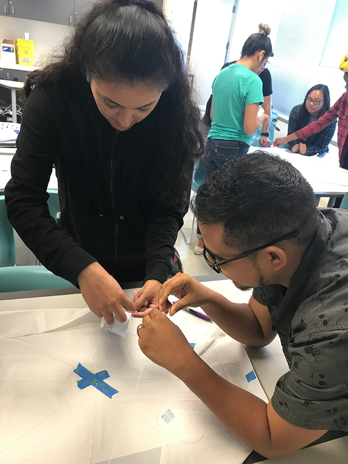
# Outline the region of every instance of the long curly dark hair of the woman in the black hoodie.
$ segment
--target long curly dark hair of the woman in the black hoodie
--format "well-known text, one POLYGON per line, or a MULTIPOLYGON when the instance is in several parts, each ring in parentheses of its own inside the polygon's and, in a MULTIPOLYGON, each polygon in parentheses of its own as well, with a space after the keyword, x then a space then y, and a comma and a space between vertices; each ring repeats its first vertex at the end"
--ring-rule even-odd
POLYGON ((183 53, 163 12, 147 0, 96 3, 75 26, 63 53, 28 75, 22 100, 39 84, 78 75, 87 81, 147 82, 163 90, 148 116, 157 129, 153 166, 162 198, 170 204, 187 201, 204 140, 183 53))

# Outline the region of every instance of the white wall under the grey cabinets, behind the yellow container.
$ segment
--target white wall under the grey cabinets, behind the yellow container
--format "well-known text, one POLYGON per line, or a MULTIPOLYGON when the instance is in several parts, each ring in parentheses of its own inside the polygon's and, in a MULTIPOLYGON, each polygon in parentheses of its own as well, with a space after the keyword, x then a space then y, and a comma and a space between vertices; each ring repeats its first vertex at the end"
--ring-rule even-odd
POLYGON ((31 19, 0 16, 0 41, 3 39, 24 39, 24 32, 29 32, 29 39, 34 41, 34 65, 40 65, 45 56, 50 54, 69 33, 70 27, 31 19))

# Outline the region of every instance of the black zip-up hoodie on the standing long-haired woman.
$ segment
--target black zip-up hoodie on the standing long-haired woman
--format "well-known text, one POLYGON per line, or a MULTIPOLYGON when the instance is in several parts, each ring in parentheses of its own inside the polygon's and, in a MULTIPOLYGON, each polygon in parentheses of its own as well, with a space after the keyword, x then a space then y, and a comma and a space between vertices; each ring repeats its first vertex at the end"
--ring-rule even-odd
POLYGON ((40 262, 74 285, 94 261, 109 274, 146 261, 145 280, 168 278, 183 211, 159 199, 150 116, 116 131, 82 76, 39 85, 26 101, 5 187, 7 215, 40 262), (58 225, 47 206, 53 165, 58 225))

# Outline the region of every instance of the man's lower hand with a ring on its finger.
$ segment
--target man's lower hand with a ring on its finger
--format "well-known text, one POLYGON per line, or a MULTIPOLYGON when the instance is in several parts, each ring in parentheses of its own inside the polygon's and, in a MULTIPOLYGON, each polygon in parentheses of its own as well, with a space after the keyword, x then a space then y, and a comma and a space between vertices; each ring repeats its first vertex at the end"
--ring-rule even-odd
POLYGON ((143 318, 139 329, 139 347, 151 361, 178 376, 196 358, 184 334, 156 308, 143 318))

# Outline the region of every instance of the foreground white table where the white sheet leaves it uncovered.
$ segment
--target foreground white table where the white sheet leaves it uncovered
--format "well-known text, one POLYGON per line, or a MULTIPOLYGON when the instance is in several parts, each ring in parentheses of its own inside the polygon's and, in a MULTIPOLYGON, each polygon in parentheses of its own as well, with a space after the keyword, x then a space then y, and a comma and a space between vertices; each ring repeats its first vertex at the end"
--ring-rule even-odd
MULTIPOLYGON (((241 292, 235 288, 228 279, 220 278, 220 276, 214 277, 206 276, 198 278, 203 281, 205 285, 209 288, 212 288, 220 293, 223 293, 229 299, 235 302, 245 302, 248 300, 249 295, 246 292, 241 292)), ((60 289, 60 292, 64 290, 60 289)), ((75 289, 68 289, 68 291, 77 291, 75 289)), ((55 290, 45 290, 44 292, 48 294, 54 294, 55 290)), ((132 297, 133 289, 129 288, 125 290, 127 296, 132 297)), ((28 296, 30 292, 21 292, 20 296, 25 296, 23 293, 28 296)), ((36 294, 33 292, 33 294, 36 294)), ((13 310, 16 311, 24 306, 28 309, 30 308, 83 308, 86 303, 84 302, 81 294, 65 294, 58 296, 42 296, 42 297, 32 297, 32 298, 19 298, 19 299, 5 299, 11 294, 2 294, 0 308, 1 310, 13 310)), ((193 317, 193 316, 192 316, 193 317)), ((207 324, 204 321, 196 320, 197 324, 207 324)), ((261 348, 259 350, 254 350, 252 348, 247 349, 247 353, 250 357, 250 360, 253 364, 254 371, 256 372, 261 385, 268 398, 272 396, 275 382, 283 373, 288 370, 287 363, 281 351, 281 346, 279 339, 276 338, 268 347, 261 348)), ((134 464, 134 463, 144 463, 144 464, 159 464, 159 457, 161 456, 161 450, 156 448, 149 450, 144 453, 137 455, 129 455, 123 457, 122 459, 111 460, 110 464, 134 464)), ((269 463, 275 464, 342 464, 347 462, 348 456, 348 437, 342 437, 330 442, 322 443, 319 445, 312 446, 300 450, 294 455, 277 461, 269 461, 269 463)), ((181 461, 184 464, 184 461, 181 461)), ((194 464, 195 461, 190 461, 194 464)), ((246 464, 251 462, 251 458, 246 460, 246 464)), ((266 463, 268 461, 265 461, 266 463)), ((107 464, 105 463, 100 464, 107 464)), ((208 464, 204 460, 201 461, 201 464, 208 464)), ((209 462, 210 464, 210 462, 209 462)))

